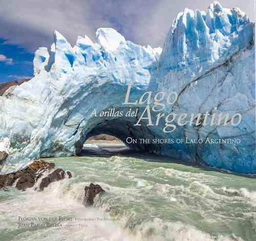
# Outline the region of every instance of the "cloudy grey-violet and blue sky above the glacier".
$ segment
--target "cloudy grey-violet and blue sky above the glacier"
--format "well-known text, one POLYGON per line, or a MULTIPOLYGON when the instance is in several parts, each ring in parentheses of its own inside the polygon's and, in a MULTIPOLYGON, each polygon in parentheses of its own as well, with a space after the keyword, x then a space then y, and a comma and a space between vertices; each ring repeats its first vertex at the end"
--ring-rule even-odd
MULTIPOLYGON (((162 46, 179 12, 206 11, 213 0, 0 0, 0 83, 31 78, 33 53, 49 47, 57 30, 74 44, 77 36, 95 41, 98 28, 114 28, 141 45, 162 46)), ((254 22, 254 0, 220 0, 239 7, 254 22)))

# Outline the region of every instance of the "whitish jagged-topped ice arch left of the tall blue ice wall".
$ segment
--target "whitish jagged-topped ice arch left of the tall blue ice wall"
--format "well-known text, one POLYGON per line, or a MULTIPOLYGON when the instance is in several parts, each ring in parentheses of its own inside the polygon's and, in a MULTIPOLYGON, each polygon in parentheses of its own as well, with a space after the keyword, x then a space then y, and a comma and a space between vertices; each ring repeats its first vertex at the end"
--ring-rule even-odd
POLYGON ((96 36, 97 43, 78 37, 72 47, 55 31, 50 51, 35 53, 34 78, 0 97, 1 138, 10 140, 2 173, 35 158, 79 152, 95 131, 95 108, 122 108, 130 82, 132 99, 147 89, 161 49, 126 41, 113 29, 99 29, 96 36))

